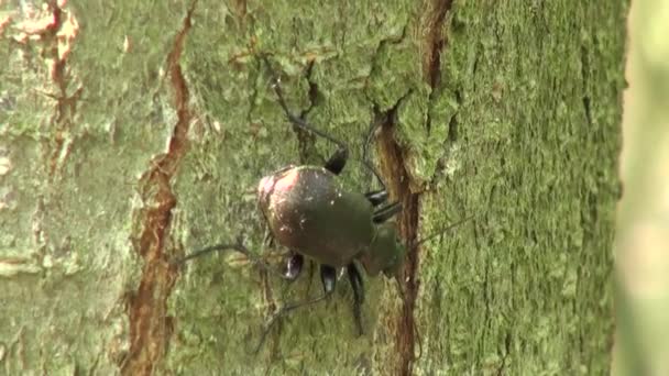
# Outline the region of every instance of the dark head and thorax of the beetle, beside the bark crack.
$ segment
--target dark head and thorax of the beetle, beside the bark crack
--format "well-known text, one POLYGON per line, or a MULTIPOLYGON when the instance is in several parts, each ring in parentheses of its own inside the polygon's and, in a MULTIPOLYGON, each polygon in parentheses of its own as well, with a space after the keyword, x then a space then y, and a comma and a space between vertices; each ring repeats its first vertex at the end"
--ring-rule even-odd
POLYGON ((385 222, 376 226, 376 235, 360 262, 370 276, 383 272, 386 277, 393 278, 399 274, 405 256, 406 247, 399 241, 395 223, 385 222))

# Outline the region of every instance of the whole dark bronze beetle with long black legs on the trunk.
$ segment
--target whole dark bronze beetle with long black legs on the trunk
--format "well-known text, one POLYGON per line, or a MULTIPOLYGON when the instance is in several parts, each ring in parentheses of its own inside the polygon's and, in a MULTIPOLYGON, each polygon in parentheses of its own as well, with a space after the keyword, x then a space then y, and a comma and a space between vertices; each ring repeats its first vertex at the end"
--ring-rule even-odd
MULTIPOLYGON (((357 263, 371 277, 383 273, 388 278, 395 278, 399 292, 404 296, 399 273, 407 253, 395 223, 390 221, 402 211, 402 204, 397 201, 387 203, 390 195, 386 185, 369 159, 369 146, 376 128, 372 126, 366 137, 362 162, 375 176, 381 189, 368 192, 348 190, 339 178, 349 157, 347 145, 289 110, 276 73, 266 56, 262 56, 262 59, 273 77, 272 87, 288 121, 298 129, 333 143, 337 150, 322 166, 288 165, 263 177, 257 185, 257 204, 270 233, 273 240, 289 250, 283 272, 273 270, 249 252, 241 236, 235 243, 212 245, 178 262, 180 264, 210 252, 234 250, 288 280, 299 276, 305 257, 320 265, 322 294, 306 301, 284 305, 275 312, 265 325, 255 353, 279 317, 327 299, 334 291, 338 276, 343 270, 353 289, 353 314, 358 333, 362 335, 364 284, 357 263)), ((446 230, 465 220, 469 218, 446 230)))

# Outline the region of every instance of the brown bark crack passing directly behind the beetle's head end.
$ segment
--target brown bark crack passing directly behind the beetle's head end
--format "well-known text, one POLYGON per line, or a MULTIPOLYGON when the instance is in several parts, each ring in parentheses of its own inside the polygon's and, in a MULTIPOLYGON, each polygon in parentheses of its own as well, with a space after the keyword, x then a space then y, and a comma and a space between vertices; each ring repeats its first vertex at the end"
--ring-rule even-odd
MULTIPOLYGON (((399 232, 407 244, 416 242, 418 234, 419 193, 410 190, 410 176, 405 167, 404 150, 393 135, 395 115, 399 102, 390 111, 380 114, 382 132, 380 135, 381 167, 386 177, 388 189, 397 201, 402 202, 399 232)), ((407 248, 407 257, 402 272, 405 301, 397 322, 396 344, 398 354, 397 369, 401 375, 410 375, 415 360, 416 333, 414 331, 414 308, 418 294, 418 280, 415 278, 418 267, 417 250, 407 248)))

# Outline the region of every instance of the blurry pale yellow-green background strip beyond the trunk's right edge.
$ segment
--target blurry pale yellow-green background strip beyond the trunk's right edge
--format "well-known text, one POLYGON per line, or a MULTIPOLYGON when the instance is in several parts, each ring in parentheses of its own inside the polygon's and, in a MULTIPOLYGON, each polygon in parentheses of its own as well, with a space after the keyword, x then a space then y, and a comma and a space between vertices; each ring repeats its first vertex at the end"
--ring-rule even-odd
POLYGON ((633 1, 616 240, 615 374, 669 375, 669 1, 633 1))

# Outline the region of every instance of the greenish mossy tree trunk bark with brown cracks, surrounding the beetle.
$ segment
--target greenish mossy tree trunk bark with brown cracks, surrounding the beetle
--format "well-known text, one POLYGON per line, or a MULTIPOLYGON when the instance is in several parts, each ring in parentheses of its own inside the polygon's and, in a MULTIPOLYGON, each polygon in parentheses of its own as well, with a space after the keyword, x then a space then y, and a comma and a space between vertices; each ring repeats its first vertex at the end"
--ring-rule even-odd
POLYGON ((626 1, 63 2, 0 13, 0 369, 608 369, 626 1), (169 261, 242 231, 272 253, 250 191, 332 151, 289 126, 259 53, 351 146, 351 189, 383 125, 407 242, 475 218, 412 248, 404 301, 366 279, 362 338, 342 280, 251 356, 315 268, 287 286, 237 255, 169 261))

